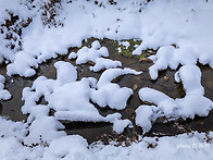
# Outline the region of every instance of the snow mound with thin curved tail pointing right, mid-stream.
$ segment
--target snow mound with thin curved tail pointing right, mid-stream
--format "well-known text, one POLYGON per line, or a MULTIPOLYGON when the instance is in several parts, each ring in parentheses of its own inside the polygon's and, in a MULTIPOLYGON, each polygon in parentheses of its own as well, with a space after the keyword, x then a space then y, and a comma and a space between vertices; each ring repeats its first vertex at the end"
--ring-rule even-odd
POLYGON ((111 83, 111 81, 121 75, 139 75, 141 73, 131 69, 109 69, 104 71, 97 83, 97 89, 91 93, 91 100, 100 107, 108 106, 111 109, 123 110, 128 98, 133 95, 133 89, 120 87, 117 84, 111 83))

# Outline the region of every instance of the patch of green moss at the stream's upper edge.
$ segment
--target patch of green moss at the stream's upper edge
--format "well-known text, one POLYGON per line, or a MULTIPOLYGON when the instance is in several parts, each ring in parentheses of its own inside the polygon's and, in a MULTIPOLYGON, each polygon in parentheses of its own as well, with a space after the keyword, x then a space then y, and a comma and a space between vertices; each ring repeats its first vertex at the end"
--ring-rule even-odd
POLYGON ((143 51, 140 56, 134 56, 133 51, 136 49, 136 45, 140 45, 142 41, 138 40, 138 39, 128 39, 128 40, 122 40, 122 41, 128 41, 129 42, 129 47, 126 48, 123 45, 118 45, 116 47, 116 51, 118 52, 118 54, 125 56, 127 58, 137 58, 137 59, 141 59, 141 58, 146 58, 148 57, 147 52, 143 51))

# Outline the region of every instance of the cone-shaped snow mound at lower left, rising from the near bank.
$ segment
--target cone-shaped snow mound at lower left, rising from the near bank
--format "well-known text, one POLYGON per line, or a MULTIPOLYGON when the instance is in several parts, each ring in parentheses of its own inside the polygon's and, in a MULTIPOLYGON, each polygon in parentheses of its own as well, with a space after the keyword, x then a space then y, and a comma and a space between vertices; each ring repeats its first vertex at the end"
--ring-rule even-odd
POLYGON ((41 140, 50 143, 52 139, 64 136, 64 126, 54 118, 49 116, 49 107, 35 106, 27 119, 29 134, 24 138, 26 145, 39 144, 41 140))

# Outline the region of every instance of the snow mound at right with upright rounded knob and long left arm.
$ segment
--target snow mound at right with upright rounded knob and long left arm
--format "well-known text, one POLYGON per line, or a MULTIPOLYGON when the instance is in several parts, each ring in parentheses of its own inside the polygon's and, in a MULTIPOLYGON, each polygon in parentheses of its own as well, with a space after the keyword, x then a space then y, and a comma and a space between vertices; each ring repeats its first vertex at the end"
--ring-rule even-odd
POLYGON ((200 69, 193 64, 184 65, 175 74, 175 79, 184 85, 186 96, 173 99, 165 94, 151 88, 141 88, 139 97, 142 101, 154 103, 154 106, 140 106, 136 110, 136 123, 149 132, 151 122, 159 116, 168 119, 193 119, 195 115, 206 116, 213 109, 213 102, 204 97, 204 89, 201 86, 200 69))

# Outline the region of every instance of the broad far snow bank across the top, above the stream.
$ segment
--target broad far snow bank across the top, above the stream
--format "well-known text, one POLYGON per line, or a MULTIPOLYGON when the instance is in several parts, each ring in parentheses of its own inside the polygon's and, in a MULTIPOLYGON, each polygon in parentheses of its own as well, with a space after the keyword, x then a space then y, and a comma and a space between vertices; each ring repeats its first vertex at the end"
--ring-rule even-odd
MULTIPOLYGON (((5 14, 3 11, 4 8, 9 8, 23 16, 24 20, 27 17, 34 19, 32 24, 23 29, 21 41, 23 41, 22 51, 32 57, 32 59, 36 59, 37 63, 55 58, 58 53, 65 54, 68 47, 80 47, 84 39, 97 37, 116 40, 139 38, 142 42, 134 51, 134 54, 140 54, 141 50, 147 48, 170 48, 171 45, 176 45, 177 49, 174 50, 177 51, 171 54, 183 56, 187 52, 187 54, 193 57, 187 56, 191 59, 192 63, 198 60, 202 64, 210 64, 211 67, 213 66, 211 45, 211 41, 213 40, 213 35, 211 35, 213 33, 213 23, 209 21, 213 16, 211 14, 213 5, 211 1, 205 2, 204 0, 199 0, 195 2, 190 0, 186 2, 184 0, 163 0, 161 2, 152 1, 147 5, 145 5, 145 1, 142 0, 138 2, 117 1, 120 5, 110 5, 109 2, 104 1, 102 3, 104 8, 85 1, 73 1, 72 3, 63 1, 61 5, 61 9, 63 10, 60 10, 60 15, 55 17, 57 21, 63 23, 63 27, 50 28, 43 27, 42 22, 40 22, 42 10, 38 13, 36 12, 39 8, 42 8, 42 3, 39 3, 39 1, 34 1, 33 4, 37 8, 32 9, 32 7, 29 7, 29 11, 26 9, 17 10, 16 8, 11 8, 10 0, 4 3, 5 5, 2 7, 3 14, 5 14), (141 3, 141 7, 139 3, 141 3), (142 9, 142 12, 138 12, 139 9, 142 9), (78 15, 78 19, 76 19, 75 15, 78 15)), ((16 5, 22 9, 24 8, 24 4, 25 2, 16 5)), ((1 48, 5 48, 3 46, 5 41, 7 40, 2 41, 1 48)), ((128 47, 127 41, 124 41, 123 44, 128 47)), ((99 45, 97 44, 96 47, 99 48, 99 45)), ((89 51, 92 49, 86 47, 83 50, 89 51)), ((103 52, 105 52, 104 48, 103 50, 103 52)), ((1 54, 9 59, 12 64, 16 63, 16 61, 21 63, 20 61, 23 60, 13 56, 16 53, 18 53, 18 51, 15 51, 14 53, 10 51, 8 54, 4 54, 2 51, 1 54)), ((98 54, 100 56, 100 52, 98 54)), ((75 54, 73 56, 76 57, 75 54)), ((176 63, 191 63, 188 62, 188 58, 183 61, 181 56, 178 56, 180 60, 175 60, 175 65, 176 63)), ((72 56, 70 58, 72 58, 72 56)), ((97 54, 95 53, 91 59, 95 61, 96 58, 97 54)), ((83 61, 79 58, 77 63, 86 63, 86 59, 83 61)), ((34 65, 34 63, 27 64, 25 70, 29 70, 34 65)), ((156 74, 156 70, 164 70, 164 67, 166 67, 161 65, 154 65, 153 74, 156 74)), ((14 67, 9 70, 14 70, 10 71, 9 74, 20 74, 21 76, 35 74, 33 72, 30 72, 29 75, 23 74, 24 71, 15 70, 14 67)), ((153 75, 152 78, 155 79, 156 77, 158 75, 153 75)))

